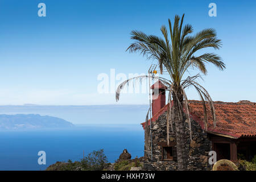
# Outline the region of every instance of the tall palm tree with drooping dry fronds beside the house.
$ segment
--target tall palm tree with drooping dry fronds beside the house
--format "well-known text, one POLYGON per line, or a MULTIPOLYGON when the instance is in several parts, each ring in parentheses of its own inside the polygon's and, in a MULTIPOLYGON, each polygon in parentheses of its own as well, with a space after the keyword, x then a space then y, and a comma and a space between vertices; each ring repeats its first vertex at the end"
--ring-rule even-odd
MULTIPOLYGON (((192 77, 188 76, 183 80, 184 73, 188 72, 188 69, 196 68, 204 75, 207 75, 205 63, 212 63, 221 71, 225 69, 225 64, 221 61, 220 56, 215 53, 203 53, 199 55, 199 50, 203 48, 213 47, 214 49, 219 49, 221 47, 221 40, 217 39, 216 31, 213 28, 206 28, 197 32, 197 34, 191 35, 193 28, 190 24, 185 24, 183 27, 183 18, 184 14, 181 20, 180 17, 176 15, 173 27, 171 20, 168 19, 171 39, 169 39, 168 31, 165 26, 160 28, 164 38, 155 35, 147 35, 141 31, 131 31, 131 39, 135 40, 135 42, 127 48, 130 52, 142 53, 147 59, 157 60, 160 73, 162 74, 163 72, 166 72, 170 75, 170 80, 163 77, 150 77, 162 81, 169 91, 168 103, 170 107, 168 107, 167 110, 167 144, 169 144, 168 133, 169 123, 171 122, 171 127, 172 125, 175 126, 173 131, 175 131, 176 135, 177 168, 179 170, 187 169, 188 153, 185 150, 185 143, 187 140, 185 137, 186 118, 189 120, 190 139, 192 139, 189 105, 184 91, 185 88, 193 86, 199 93, 204 106, 204 129, 207 130, 206 101, 209 103, 210 111, 213 115, 214 126, 216 126, 212 98, 210 98, 207 90, 196 81, 200 75, 192 77)), ((148 76, 134 77, 122 82, 117 88, 116 100, 119 100, 119 94, 125 84, 129 83, 131 80, 146 77, 148 76)))

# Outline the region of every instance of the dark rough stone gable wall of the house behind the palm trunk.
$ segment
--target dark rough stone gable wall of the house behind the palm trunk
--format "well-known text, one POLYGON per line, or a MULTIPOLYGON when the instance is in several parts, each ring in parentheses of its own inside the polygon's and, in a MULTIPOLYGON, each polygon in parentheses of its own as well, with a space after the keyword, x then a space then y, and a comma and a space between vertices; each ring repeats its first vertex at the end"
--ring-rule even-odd
MULTIPOLYGON (((188 123, 186 122, 187 128, 188 123)), ((175 129, 175 126, 173 125, 175 129)), ((176 160, 163 160, 162 143, 167 143, 167 127, 166 127, 166 112, 152 122, 152 154, 151 160, 150 152, 144 151, 144 169, 145 170, 176 170, 176 160)), ((207 133, 201 129, 200 125, 191 121, 192 141, 189 138, 189 130, 186 129, 187 136, 186 151, 188 151, 188 170, 209 170, 208 153, 212 146, 207 133)), ((175 146, 175 133, 171 129, 169 132, 170 143, 175 146)), ((145 146, 146 149, 146 146, 145 146)))

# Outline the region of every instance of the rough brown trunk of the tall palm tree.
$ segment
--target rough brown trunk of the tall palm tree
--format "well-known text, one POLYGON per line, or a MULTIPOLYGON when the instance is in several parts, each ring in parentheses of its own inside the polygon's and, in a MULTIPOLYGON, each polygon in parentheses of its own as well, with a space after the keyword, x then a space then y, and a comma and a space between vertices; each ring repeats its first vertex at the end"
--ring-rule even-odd
POLYGON ((174 100, 174 123, 176 134, 176 147, 177 147, 177 169, 184 171, 187 169, 187 151, 186 151, 186 137, 185 137, 185 117, 183 112, 183 94, 181 88, 176 88, 172 93, 174 100), (180 103, 180 104, 179 104, 180 103))

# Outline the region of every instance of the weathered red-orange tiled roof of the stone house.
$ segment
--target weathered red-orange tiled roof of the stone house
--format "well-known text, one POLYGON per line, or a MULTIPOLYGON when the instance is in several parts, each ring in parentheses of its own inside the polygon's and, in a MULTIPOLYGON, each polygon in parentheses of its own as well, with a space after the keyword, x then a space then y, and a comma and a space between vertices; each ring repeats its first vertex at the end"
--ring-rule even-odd
MULTIPOLYGON (((164 111, 164 106, 151 120, 154 122, 164 111)), ((204 129, 204 109, 201 101, 189 101, 191 118, 197 121, 204 129)), ((250 101, 240 102, 214 102, 216 114, 216 127, 213 126, 212 115, 207 105, 208 132, 223 134, 230 137, 256 137, 256 103, 250 101)), ((144 127, 145 123, 142 123, 144 127)))

